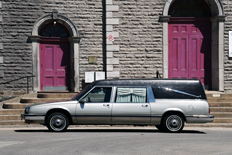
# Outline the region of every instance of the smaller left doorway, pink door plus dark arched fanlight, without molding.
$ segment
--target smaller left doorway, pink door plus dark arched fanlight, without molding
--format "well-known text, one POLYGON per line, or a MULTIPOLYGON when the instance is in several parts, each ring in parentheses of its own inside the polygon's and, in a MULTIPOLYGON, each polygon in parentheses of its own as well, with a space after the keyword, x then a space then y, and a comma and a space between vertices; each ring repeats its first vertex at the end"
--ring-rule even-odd
POLYGON ((39 32, 40 90, 70 90, 70 37, 61 24, 49 23, 39 32))

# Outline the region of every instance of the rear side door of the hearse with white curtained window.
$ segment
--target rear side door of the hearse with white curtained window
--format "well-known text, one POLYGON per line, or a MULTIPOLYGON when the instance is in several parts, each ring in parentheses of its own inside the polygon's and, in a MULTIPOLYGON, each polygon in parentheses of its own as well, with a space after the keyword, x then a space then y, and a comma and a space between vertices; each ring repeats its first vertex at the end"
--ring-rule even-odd
POLYGON ((149 124, 151 108, 146 87, 118 87, 112 109, 113 124, 149 124))

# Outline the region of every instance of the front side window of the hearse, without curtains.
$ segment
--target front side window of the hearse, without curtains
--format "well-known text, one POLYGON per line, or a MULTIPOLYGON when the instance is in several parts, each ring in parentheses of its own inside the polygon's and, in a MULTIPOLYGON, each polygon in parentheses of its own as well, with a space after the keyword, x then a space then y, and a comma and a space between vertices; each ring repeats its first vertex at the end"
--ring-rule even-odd
POLYGON ((96 87, 84 99, 86 102, 110 102, 112 88, 96 87))

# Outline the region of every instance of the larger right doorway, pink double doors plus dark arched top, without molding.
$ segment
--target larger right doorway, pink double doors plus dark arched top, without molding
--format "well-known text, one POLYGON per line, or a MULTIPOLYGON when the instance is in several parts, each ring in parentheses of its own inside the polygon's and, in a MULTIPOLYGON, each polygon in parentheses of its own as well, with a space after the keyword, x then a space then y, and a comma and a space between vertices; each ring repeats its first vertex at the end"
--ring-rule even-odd
POLYGON ((199 79, 211 89, 211 12, 202 0, 175 0, 168 15, 168 77, 199 79))

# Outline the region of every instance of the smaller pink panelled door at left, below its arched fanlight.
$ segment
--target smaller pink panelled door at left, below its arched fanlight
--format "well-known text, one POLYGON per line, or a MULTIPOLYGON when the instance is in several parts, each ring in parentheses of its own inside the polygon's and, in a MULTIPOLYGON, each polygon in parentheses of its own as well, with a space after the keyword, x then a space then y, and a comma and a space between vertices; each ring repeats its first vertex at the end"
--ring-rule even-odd
POLYGON ((69 85, 69 44, 40 44, 40 89, 67 90, 69 85))

